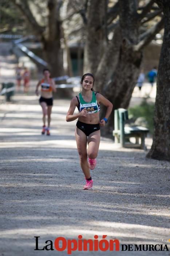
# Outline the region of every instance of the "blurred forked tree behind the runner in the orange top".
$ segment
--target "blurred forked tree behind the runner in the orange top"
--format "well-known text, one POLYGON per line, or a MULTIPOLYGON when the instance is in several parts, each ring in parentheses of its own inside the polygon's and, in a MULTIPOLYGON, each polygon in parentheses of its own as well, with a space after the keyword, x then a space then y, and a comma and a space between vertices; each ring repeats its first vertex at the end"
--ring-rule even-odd
POLYGON ((60 20, 60 0, 12 0, 27 19, 43 44, 43 55, 51 70, 52 76, 64 75, 63 52, 61 39, 63 38, 60 20))

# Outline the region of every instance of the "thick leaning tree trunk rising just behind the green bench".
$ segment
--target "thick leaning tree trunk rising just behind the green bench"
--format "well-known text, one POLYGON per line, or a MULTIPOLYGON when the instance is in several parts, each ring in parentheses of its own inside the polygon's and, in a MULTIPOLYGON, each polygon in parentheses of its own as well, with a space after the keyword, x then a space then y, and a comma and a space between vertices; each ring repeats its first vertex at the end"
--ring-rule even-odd
MULTIPOLYGON (((128 108, 142 61, 142 52, 136 51, 134 46, 138 43, 139 25, 136 22, 137 5, 135 0, 119 0, 120 29, 118 62, 113 70, 112 82, 105 85, 103 94, 112 102, 113 110, 108 124, 102 135, 112 136, 114 127, 114 109, 128 108)), ((115 40, 115 39, 114 39, 115 40)), ((103 116, 102 108, 101 115, 103 116)))

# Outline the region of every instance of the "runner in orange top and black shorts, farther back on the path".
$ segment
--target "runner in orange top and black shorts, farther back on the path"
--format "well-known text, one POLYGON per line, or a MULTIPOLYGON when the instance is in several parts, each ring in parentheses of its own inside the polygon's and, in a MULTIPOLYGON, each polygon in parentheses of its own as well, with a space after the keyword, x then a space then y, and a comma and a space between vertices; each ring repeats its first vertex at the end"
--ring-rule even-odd
POLYGON ((36 86, 35 93, 39 95, 38 88, 41 86, 41 97, 39 103, 43 111, 43 129, 41 134, 50 135, 50 122, 51 122, 51 111, 53 105, 52 91, 56 92, 55 83, 52 78, 50 78, 50 70, 45 68, 43 70, 43 79, 41 79, 36 86), (46 116, 48 117, 48 126, 46 127, 46 116))

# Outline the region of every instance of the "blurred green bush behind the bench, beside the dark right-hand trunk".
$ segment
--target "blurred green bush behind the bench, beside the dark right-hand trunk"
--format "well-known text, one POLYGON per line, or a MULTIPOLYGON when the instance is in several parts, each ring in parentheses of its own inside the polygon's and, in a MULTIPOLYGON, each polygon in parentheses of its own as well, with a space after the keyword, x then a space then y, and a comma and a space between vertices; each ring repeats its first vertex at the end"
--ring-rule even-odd
POLYGON ((134 118, 135 120, 138 117, 144 117, 150 133, 153 133, 154 129, 154 103, 148 103, 145 99, 142 101, 141 105, 134 106, 128 109, 129 117, 134 118))

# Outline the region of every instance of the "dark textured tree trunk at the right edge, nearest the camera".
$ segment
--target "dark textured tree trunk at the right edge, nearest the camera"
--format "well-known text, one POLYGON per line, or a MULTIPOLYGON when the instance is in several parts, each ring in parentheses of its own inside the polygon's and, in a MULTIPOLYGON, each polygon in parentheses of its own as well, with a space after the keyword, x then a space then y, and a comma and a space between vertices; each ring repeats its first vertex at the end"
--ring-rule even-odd
POLYGON ((165 16, 157 77, 153 144, 147 157, 170 161, 170 1, 156 0, 165 16))

